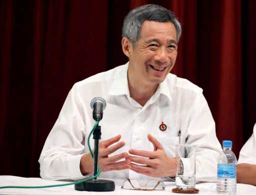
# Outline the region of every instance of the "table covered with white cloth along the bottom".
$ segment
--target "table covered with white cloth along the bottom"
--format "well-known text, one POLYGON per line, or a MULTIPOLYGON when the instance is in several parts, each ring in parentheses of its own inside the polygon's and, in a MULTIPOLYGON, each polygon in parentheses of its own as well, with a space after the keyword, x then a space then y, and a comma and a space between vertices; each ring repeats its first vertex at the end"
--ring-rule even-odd
MULTIPOLYGON (((178 194, 172 193, 171 189, 175 187, 175 182, 164 182, 166 185, 165 190, 161 191, 142 191, 142 190, 128 190, 128 189, 121 189, 121 185, 123 180, 120 179, 113 179, 115 181, 115 190, 109 192, 92 192, 92 191, 77 191, 74 189, 74 185, 67 185, 61 187, 50 187, 50 188, 37 188, 37 189, 21 189, 21 188, 4 188, 0 189, 0 194, 118 194, 118 195, 130 195, 130 193, 137 194, 146 194, 146 195, 170 195, 170 194, 178 194)), ((18 176, 11 176, 11 175, 0 175, 0 186, 3 185, 51 185, 51 184, 62 184, 67 183, 68 181, 52 181, 52 180, 45 180, 42 178, 34 178, 34 177, 18 177, 18 176)), ((215 183, 197 183, 196 188, 198 188, 199 194, 202 195, 211 195, 216 194, 215 183)), ((237 195, 252 195, 256 194, 256 186, 237 183, 237 195)))

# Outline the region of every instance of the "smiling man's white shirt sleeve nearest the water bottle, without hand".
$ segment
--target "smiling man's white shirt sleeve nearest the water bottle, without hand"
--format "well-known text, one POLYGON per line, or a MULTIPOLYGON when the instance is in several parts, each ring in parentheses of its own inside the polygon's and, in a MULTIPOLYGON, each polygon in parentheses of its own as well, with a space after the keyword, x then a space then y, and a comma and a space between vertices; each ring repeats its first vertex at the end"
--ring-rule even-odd
POLYGON ((215 181, 217 158, 222 149, 216 137, 215 122, 202 91, 197 94, 188 118, 186 144, 197 146, 196 181, 215 181))

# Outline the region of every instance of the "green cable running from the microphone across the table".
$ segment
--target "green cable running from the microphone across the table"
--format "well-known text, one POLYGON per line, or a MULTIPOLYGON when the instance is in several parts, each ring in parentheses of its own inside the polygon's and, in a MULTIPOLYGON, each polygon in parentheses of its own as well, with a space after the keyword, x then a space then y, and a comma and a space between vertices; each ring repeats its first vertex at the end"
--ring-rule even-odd
MULTIPOLYGON (((93 158, 93 153, 91 151, 91 148, 90 148, 90 143, 89 143, 89 139, 90 139, 90 136, 92 134, 92 132, 94 131, 94 129, 96 128, 96 126, 98 125, 98 121, 95 122, 93 128, 91 129, 90 133, 89 133, 89 136, 87 138, 87 144, 88 144, 88 148, 89 148, 89 151, 90 151, 90 155, 91 157, 93 158)), ((74 181, 74 182, 70 182, 70 183, 64 183, 64 184, 56 184, 56 185, 38 185, 38 186, 0 186, 0 189, 2 188, 45 188, 45 187, 58 187, 58 186, 65 186, 65 185, 73 185, 73 184, 78 184, 78 183, 82 183, 83 181, 88 181, 88 180, 91 180, 95 177, 97 177, 98 175, 100 174, 100 168, 98 167, 98 170, 97 170, 97 173, 94 175, 94 176, 91 176, 89 178, 85 178, 85 179, 82 179, 82 180, 79 180, 79 181, 74 181)))

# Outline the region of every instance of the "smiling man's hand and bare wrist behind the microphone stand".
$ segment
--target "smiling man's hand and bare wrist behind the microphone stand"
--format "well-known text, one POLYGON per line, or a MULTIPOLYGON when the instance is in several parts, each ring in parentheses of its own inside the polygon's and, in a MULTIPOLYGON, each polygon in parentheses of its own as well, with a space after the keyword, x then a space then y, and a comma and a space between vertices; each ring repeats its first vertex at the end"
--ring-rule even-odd
MULTIPOLYGON (((108 156, 109 154, 113 153, 114 151, 116 151, 117 149, 125 145, 124 141, 118 142, 120 138, 121 138, 121 135, 117 135, 115 137, 101 141, 99 143, 98 165, 100 167, 101 172, 131 168, 129 159, 118 161, 122 158, 127 157, 128 156, 127 152, 122 152, 110 157, 108 156), (111 145, 115 142, 117 143, 114 145, 111 145)), ((82 155, 80 160, 80 171, 84 175, 93 171, 93 159, 90 153, 86 153, 82 155)))

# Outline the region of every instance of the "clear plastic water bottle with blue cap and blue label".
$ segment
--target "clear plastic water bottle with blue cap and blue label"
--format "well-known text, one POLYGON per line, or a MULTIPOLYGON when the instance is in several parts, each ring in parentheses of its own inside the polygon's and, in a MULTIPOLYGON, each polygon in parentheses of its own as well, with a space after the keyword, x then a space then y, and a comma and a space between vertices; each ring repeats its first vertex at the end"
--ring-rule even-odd
POLYGON ((223 151, 218 156, 217 194, 236 193, 236 157, 231 151, 232 141, 222 142, 223 151))

